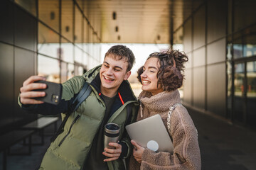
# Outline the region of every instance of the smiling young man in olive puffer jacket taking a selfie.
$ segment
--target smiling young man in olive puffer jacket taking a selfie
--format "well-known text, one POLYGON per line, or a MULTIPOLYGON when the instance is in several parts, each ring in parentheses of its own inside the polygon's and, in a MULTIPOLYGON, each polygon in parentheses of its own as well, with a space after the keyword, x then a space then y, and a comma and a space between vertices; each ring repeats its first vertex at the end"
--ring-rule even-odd
POLYGON ((132 151, 124 124, 137 117, 137 99, 126 81, 134 60, 129 48, 123 45, 111 47, 102 65, 62 84, 62 99, 57 106, 33 99, 46 95, 33 91, 46 88, 46 84, 34 83, 45 80, 43 77, 33 76, 23 82, 18 100, 21 108, 43 115, 67 113, 85 81, 92 87, 87 99, 68 117, 64 131, 51 143, 41 169, 124 169, 122 159, 129 157, 132 151), (127 114, 127 111, 132 113, 127 114), (109 144, 115 149, 104 148, 103 132, 107 123, 120 126, 119 142, 109 144))

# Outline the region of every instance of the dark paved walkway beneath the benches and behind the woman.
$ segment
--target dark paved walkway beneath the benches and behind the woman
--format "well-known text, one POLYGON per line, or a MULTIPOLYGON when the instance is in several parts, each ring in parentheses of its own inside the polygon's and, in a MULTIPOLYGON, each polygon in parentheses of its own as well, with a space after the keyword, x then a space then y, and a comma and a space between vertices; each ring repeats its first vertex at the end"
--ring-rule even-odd
MULTIPOLYGON (((230 125, 223 120, 198 113, 189 108, 188 113, 190 113, 198 129, 203 170, 256 169, 255 131, 230 125)), ((46 128, 46 132, 53 132, 53 126, 46 128)), ((34 135, 33 141, 40 142, 40 137, 34 135)), ((50 145, 50 136, 46 136, 45 142, 46 144, 43 146, 33 146, 31 156, 9 156, 7 169, 36 169, 50 145)), ((26 149, 21 142, 21 144, 12 147, 11 152, 22 152, 26 149)), ((0 169, 2 169, 2 154, 0 154, 0 169)))

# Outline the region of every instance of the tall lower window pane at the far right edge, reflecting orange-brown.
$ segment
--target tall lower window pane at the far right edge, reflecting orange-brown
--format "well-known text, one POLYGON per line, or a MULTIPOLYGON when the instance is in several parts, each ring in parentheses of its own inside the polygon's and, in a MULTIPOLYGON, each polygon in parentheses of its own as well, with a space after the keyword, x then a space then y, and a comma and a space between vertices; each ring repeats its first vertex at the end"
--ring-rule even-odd
POLYGON ((256 62, 247 62, 247 123, 256 127, 256 62))

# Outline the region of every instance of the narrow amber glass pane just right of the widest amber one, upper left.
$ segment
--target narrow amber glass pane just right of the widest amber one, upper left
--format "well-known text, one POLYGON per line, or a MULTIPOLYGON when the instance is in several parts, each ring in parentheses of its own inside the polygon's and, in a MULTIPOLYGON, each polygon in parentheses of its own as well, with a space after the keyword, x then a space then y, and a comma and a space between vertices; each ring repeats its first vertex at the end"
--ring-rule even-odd
POLYGON ((61 34, 73 42, 73 1, 61 1, 61 34))

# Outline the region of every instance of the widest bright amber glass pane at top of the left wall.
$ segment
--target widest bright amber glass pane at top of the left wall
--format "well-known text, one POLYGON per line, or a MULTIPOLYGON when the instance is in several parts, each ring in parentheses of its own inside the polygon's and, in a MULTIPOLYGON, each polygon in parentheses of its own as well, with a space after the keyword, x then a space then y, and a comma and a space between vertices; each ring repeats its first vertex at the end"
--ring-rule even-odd
POLYGON ((38 18, 59 32, 59 1, 38 0, 38 18))

